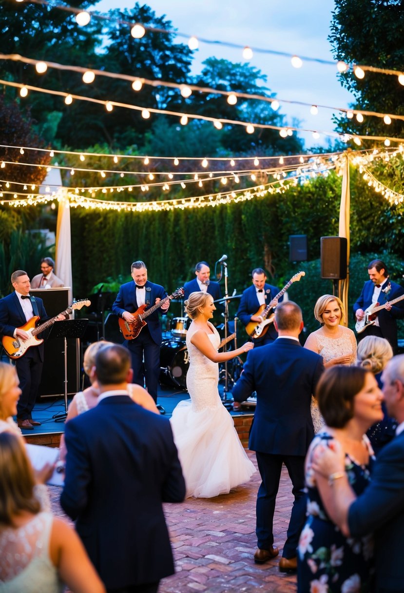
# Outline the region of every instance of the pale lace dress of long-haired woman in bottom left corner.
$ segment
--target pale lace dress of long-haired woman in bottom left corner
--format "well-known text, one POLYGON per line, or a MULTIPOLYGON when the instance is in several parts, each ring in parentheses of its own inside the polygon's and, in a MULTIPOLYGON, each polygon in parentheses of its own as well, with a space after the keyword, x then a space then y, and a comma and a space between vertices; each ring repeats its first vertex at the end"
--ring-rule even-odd
POLYGON ((23 527, 0 534, 0 592, 58 593, 63 583, 49 557, 53 516, 39 513, 23 527))

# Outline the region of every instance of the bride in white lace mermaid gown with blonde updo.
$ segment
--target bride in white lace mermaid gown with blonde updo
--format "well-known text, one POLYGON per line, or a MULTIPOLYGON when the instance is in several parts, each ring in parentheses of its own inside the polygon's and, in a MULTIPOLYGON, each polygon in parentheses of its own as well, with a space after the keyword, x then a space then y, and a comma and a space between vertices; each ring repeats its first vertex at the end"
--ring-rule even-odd
POLYGON ((219 362, 228 361, 254 346, 218 353, 220 336, 209 322, 216 309, 206 292, 192 292, 185 311, 193 319, 187 331, 190 367, 187 388, 191 400, 181 401, 171 417, 187 497, 211 498, 247 482, 255 472, 220 400, 219 362))

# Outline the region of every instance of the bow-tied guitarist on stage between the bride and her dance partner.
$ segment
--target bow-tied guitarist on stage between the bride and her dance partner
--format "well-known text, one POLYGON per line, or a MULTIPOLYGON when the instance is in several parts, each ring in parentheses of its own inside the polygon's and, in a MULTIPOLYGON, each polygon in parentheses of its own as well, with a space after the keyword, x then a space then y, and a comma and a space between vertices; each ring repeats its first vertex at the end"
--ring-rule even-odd
MULTIPOLYGON (((265 305, 265 307, 269 305, 271 300, 274 299, 279 292, 279 289, 276 286, 267 283, 267 276, 265 276, 265 271, 262 267, 256 267, 252 270, 251 275, 252 286, 246 288, 243 292, 239 310, 236 313, 236 316, 245 326, 247 326, 250 321, 262 323, 263 318, 261 315, 258 315, 259 307, 261 307, 261 305, 265 305)), ((283 298, 284 295, 279 299, 279 302, 282 302, 283 298)), ((277 339, 278 332, 275 330, 274 324, 270 323, 266 327, 268 327, 268 329, 264 336, 252 340, 255 347, 264 346, 264 344, 269 344, 277 339)))

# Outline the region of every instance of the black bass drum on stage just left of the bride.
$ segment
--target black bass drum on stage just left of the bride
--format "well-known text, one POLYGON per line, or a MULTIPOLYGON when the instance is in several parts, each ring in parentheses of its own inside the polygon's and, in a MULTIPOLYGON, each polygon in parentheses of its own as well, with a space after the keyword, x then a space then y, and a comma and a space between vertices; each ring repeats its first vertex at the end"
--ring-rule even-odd
POLYGON ((188 349, 182 340, 165 340, 160 349, 160 382, 187 391, 187 371, 190 366, 188 349))

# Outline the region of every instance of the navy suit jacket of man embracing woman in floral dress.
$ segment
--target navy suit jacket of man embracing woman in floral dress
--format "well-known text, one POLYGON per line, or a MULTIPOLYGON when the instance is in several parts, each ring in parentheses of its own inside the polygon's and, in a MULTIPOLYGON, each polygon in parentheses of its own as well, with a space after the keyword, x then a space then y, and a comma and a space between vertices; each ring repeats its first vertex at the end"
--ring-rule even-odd
POLYGON ((404 588, 404 433, 381 449, 371 482, 348 514, 352 537, 374 531, 376 591, 404 588))

